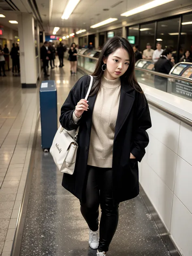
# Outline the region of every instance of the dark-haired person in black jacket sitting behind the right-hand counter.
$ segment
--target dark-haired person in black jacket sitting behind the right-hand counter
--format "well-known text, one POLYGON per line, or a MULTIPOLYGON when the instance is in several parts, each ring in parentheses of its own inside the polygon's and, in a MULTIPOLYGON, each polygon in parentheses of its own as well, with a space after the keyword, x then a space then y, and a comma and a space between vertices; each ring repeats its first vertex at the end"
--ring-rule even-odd
MULTIPOLYGON (((169 72, 171 71, 171 68, 173 68, 174 65, 175 65, 175 60, 172 58, 172 51, 171 49, 167 48, 162 52, 162 55, 160 56, 158 61, 155 63, 155 71, 164 73, 164 74, 169 74, 169 72)), ((166 92, 167 78, 155 75, 154 85, 157 89, 166 92)))

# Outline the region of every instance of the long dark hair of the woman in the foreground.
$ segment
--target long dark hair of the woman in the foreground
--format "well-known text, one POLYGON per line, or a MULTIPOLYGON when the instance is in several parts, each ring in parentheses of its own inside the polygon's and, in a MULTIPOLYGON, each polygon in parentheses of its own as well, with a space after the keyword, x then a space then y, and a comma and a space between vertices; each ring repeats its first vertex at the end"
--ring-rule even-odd
POLYGON ((126 38, 120 36, 114 36, 107 40, 105 45, 102 47, 100 52, 98 61, 96 63, 96 67, 92 76, 95 78, 95 83, 92 86, 92 90, 90 92, 90 96, 96 94, 100 88, 101 78, 103 76, 104 71, 102 71, 102 65, 104 64, 103 58, 108 57, 111 53, 116 51, 118 48, 124 48, 130 56, 130 64, 124 75, 121 76, 121 81, 123 80, 124 83, 129 84, 132 88, 137 90, 138 92, 143 93, 134 73, 134 65, 135 65, 135 56, 134 51, 132 49, 131 44, 128 42, 126 38))

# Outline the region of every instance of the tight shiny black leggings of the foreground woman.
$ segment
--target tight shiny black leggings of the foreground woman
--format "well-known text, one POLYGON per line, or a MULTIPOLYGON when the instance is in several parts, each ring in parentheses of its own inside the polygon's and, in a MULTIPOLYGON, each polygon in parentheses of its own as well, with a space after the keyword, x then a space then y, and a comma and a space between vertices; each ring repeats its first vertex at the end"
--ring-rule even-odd
POLYGON ((100 240, 98 250, 107 252, 117 229, 119 204, 113 203, 112 169, 87 166, 85 202, 81 213, 92 231, 98 230, 99 204, 101 207, 100 240))

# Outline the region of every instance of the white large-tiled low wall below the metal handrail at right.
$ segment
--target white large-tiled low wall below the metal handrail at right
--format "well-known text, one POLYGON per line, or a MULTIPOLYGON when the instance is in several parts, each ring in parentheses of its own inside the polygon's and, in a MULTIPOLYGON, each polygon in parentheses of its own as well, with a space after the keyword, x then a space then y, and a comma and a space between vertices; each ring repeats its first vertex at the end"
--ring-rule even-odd
POLYGON ((139 180, 183 256, 192 256, 192 127, 150 107, 139 180))

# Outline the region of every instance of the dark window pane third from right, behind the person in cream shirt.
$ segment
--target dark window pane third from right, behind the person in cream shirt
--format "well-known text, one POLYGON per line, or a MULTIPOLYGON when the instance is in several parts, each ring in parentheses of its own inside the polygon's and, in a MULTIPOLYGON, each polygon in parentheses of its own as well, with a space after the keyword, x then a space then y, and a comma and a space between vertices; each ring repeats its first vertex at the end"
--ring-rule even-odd
POLYGON ((150 44, 151 49, 156 49, 156 46, 154 45, 154 36, 155 36, 155 23, 141 25, 139 50, 143 52, 146 49, 147 43, 150 44))

